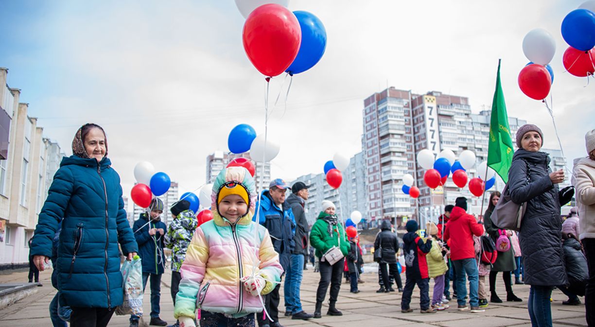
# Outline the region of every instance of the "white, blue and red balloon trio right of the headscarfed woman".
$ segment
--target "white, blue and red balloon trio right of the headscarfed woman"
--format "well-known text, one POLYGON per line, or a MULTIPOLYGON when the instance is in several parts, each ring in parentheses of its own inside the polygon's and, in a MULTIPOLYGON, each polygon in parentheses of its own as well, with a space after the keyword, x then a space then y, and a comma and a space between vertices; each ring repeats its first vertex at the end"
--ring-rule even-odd
POLYGON ((161 196, 170 189, 171 180, 165 172, 155 172, 155 167, 146 161, 134 166, 137 184, 130 191, 132 201, 139 207, 151 205, 154 196, 161 196))

